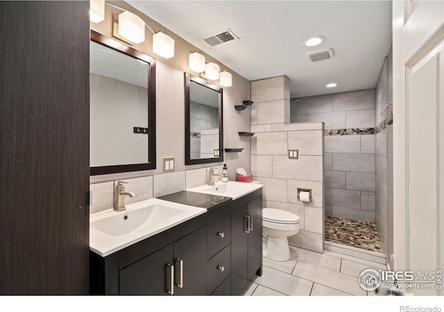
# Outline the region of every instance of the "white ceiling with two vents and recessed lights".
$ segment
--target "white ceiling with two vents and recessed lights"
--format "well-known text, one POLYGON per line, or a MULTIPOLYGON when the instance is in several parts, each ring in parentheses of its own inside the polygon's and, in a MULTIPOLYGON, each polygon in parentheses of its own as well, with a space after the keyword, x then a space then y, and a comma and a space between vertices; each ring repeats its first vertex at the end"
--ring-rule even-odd
POLYGON ((391 1, 128 3, 248 80, 286 75, 291 98, 374 88, 391 45, 391 1), (239 40, 203 42, 226 28, 239 40), (315 35, 325 42, 303 44, 315 35), (325 48, 334 58, 307 60, 307 53, 325 48), (327 89, 332 82, 338 87, 327 89))

